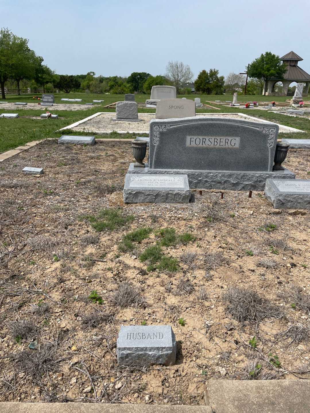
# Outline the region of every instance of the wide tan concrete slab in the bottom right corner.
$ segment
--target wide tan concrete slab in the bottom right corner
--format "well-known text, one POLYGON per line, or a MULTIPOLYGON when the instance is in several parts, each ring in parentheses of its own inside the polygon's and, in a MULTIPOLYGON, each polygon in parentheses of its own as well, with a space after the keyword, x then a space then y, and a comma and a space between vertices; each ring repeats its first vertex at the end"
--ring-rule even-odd
POLYGON ((310 380, 210 380, 216 413, 309 413, 310 380))

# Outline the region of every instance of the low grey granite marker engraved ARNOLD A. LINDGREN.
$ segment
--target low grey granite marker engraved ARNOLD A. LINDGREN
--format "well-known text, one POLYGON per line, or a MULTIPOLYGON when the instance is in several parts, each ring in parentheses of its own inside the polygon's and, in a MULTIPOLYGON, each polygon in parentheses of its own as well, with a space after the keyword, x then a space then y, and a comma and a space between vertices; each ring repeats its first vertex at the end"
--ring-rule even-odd
POLYGON ((125 203, 187 204, 191 191, 187 175, 127 173, 123 197, 125 203))

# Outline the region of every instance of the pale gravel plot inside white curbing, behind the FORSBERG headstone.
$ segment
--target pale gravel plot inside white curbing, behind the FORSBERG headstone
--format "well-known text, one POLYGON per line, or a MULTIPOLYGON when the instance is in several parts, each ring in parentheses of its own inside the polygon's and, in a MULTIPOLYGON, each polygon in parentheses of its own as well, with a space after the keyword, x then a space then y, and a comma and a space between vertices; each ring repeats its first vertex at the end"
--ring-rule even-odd
MULTIPOLYGON (((246 116, 241 116, 239 114, 197 114, 198 116, 204 116, 208 118, 224 118, 224 119, 242 119, 252 122, 265 123, 259 118, 248 119, 246 116)), ((95 116, 89 121, 83 122, 78 126, 74 126, 72 129, 80 132, 90 132, 90 133, 111 133, 113 131, 119 133, 135 132, 135 133, 149 133, 150 132, 150 120, 155 119, 155 113, 138 113, 138 118, 142 119, 141 122, 126 122, 126 121, 113 121, 115 119, 115 113, 103 113, 95 116)), ((288 132, 287 129, 279 127, 279 132, 288 132)))

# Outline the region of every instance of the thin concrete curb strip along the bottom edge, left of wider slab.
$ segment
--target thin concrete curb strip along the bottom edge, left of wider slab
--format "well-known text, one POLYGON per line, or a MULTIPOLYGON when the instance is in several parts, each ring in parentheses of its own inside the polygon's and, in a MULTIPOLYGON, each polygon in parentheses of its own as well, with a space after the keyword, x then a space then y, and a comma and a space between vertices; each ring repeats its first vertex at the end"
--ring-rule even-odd
MULTIPOLYGON (((105 403, 0 403, 0 413, 212 413, 210 406, 105 403)), ((284 413, 284 412, 282 412, 284 413)))

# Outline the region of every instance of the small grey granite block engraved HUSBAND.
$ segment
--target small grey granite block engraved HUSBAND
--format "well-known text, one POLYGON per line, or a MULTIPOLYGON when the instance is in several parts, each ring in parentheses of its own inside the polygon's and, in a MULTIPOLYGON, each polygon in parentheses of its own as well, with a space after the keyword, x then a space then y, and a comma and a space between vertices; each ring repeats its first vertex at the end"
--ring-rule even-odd
POLYGON ((116 352, 119 366, 172 366, 176 361, 176 339, 169 325, 122 325, 116 352))

